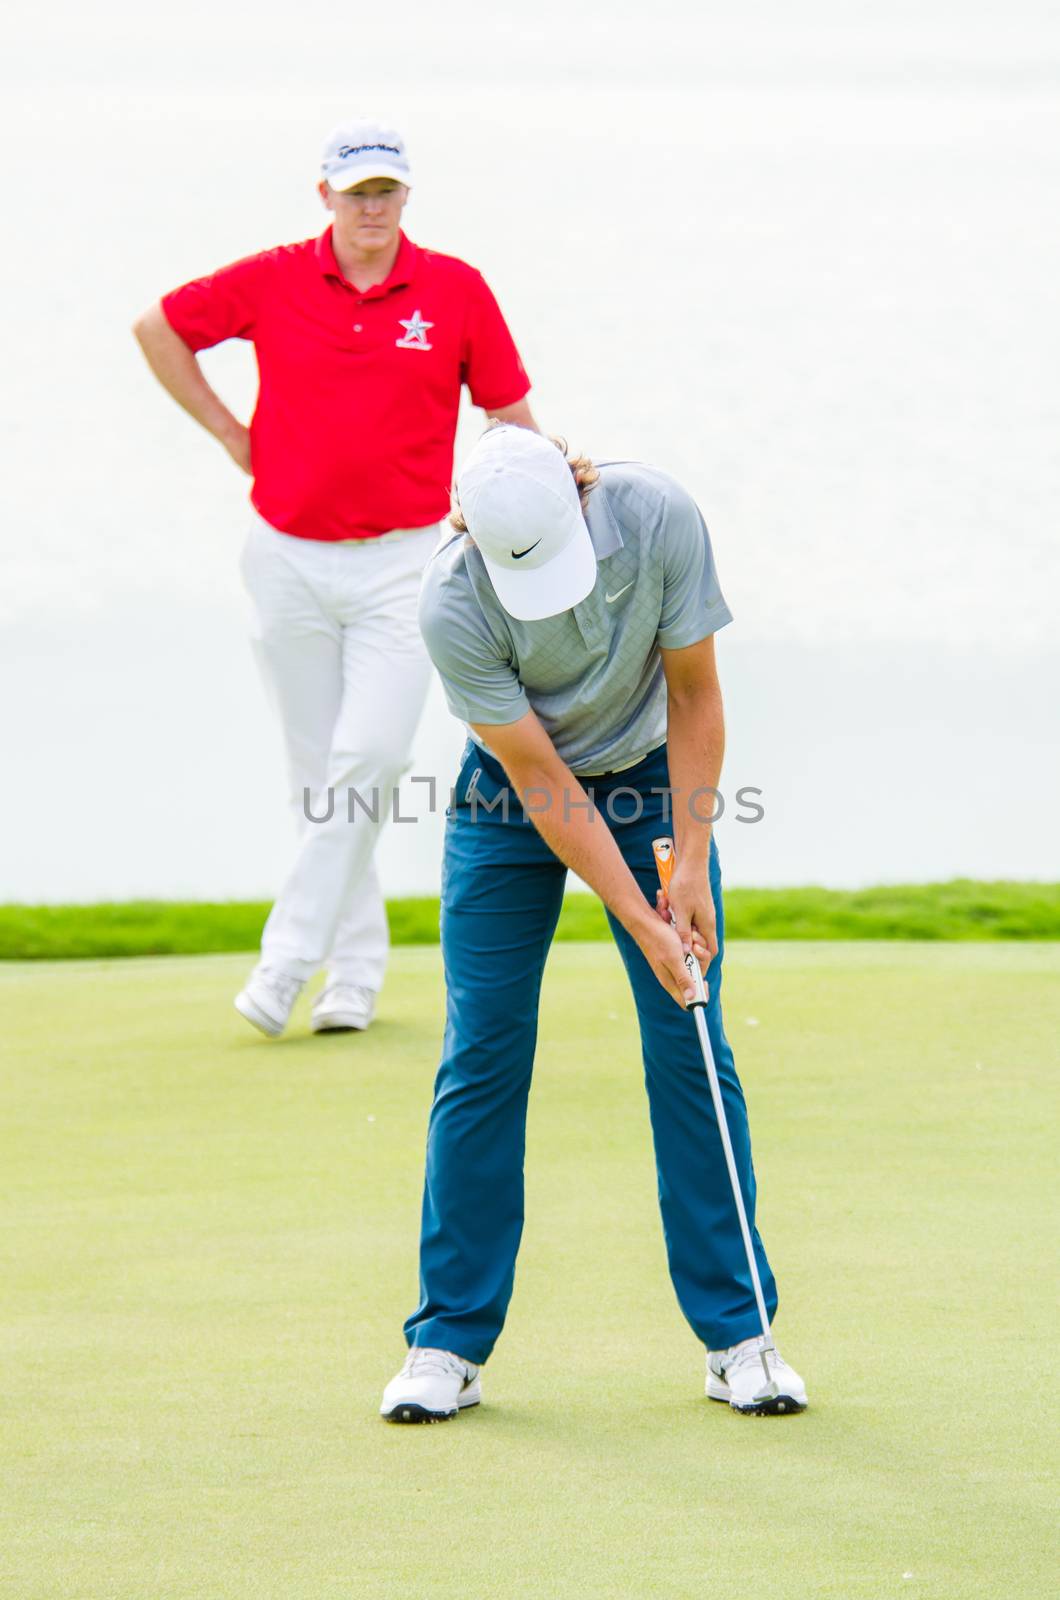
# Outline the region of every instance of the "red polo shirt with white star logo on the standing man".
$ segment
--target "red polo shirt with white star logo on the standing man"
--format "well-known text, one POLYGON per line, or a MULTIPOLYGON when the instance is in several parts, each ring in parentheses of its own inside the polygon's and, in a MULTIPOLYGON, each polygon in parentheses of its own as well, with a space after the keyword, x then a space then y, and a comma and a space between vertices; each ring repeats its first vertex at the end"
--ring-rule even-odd
POLYGON ((163 296, 192 350, 250 339, 251 501, 303 539, 368 539, 448 510, 461 384, 476 405, 530 389, 482 274, 400 235, 384 283, 343 277, 331 229, 163 296))

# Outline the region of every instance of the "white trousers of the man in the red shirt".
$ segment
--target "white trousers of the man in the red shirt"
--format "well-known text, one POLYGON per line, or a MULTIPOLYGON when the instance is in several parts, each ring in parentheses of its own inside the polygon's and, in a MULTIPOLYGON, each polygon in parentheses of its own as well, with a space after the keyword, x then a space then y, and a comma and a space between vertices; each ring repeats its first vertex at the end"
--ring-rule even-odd
POLYGON ((291 978, 378 990, 387 926, 373 853, 428 693, 416 603, 437 525, 359 544, 277 533, 255 517, 243 549, 253 645, 287 744, 301 834, 261 936, 261 958, 291 978), (323 818, 328 790, 335 810, 323 818), (354 803, 355 790, 363 806, 354 803), (373 821, 370 811, 375 811, 373 821))

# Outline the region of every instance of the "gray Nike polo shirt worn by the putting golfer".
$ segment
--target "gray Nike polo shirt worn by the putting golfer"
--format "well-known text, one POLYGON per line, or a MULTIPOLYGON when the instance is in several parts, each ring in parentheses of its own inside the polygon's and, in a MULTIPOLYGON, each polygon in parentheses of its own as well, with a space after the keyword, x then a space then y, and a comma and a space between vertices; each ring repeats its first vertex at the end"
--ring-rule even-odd
POLYGON ((666 739, 663 650, 732 621, 692 496, 639 461, 602 461, 586 520, 599 563, 572 611, 519 622, 479 550, 453 534, 429 562, 420 627, 448 709, 479 726, 533 707, 575 773, 631 766, 666 739))

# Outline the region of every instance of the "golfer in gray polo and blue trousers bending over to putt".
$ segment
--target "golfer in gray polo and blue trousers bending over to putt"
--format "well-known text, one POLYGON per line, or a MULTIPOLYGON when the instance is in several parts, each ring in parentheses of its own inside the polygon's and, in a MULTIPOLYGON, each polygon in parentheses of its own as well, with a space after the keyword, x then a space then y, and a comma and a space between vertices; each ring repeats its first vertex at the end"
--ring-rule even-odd
POLYGON ((424 574, 420 624, 471 739, 445 826, 447 1026, 428 1133, 421 1299, 381 1413, 439 1421, 482 1397, 480 1366, 516 1274, 538 995, 572 869, 604 901, 632 987, 669 1272, 706 1347, 706 1394, 740 1413, 793 1414, 805 1386, 762 1338, 685 1010, 692 950, 709 986, 706 1022, 772 1318, 777 1285, 754 1229, 748 1114, 721 1008, 709 819, 724 747, 714 634, 730 613, 706 526, 666 474, 572 461, 556 442, 504 424, 464 462, 452 522, 424 574), (656 886, 658 835, 676 846, 669 898, 656 886))

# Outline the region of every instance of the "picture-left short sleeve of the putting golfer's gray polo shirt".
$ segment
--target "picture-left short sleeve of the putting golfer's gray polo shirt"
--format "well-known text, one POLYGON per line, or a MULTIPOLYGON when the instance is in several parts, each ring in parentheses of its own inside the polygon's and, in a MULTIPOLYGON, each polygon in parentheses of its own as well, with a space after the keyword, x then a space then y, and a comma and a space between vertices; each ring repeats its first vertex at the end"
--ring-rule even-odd
POLYGON ((428 565, 420 590, 420 632, 437 667, 445 702, 461 722, 519 722, 530 701, 490 634, 472 590, 445 570, 447 547, 428 565))

